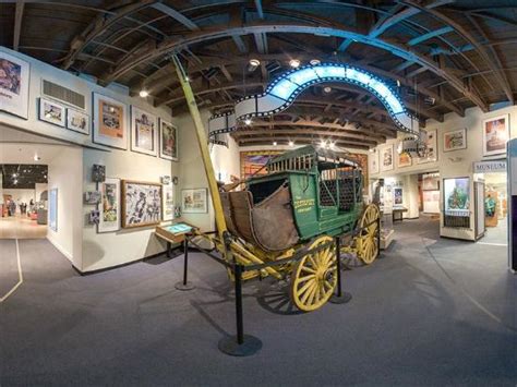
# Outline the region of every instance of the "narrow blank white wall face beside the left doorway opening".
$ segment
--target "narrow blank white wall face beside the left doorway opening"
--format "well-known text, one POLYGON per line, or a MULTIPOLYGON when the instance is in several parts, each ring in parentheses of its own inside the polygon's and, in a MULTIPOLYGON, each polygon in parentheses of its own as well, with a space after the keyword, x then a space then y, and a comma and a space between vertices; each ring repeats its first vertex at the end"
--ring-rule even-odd
POLYGON ((63 146, 48 165, 48 189, 58 190, 58 230, 49 227, 47 239, 77 268, 82 266, 83 242, 82 169, 81 147, 63 146))

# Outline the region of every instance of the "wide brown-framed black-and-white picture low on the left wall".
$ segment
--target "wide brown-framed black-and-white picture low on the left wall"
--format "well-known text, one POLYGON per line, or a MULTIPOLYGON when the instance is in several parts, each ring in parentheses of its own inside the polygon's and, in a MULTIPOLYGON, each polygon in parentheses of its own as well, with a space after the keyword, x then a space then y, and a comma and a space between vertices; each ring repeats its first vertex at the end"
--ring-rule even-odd
POLYGON ((122 227, 159 225, 161 221, 161 184, 122 180, 122 227))

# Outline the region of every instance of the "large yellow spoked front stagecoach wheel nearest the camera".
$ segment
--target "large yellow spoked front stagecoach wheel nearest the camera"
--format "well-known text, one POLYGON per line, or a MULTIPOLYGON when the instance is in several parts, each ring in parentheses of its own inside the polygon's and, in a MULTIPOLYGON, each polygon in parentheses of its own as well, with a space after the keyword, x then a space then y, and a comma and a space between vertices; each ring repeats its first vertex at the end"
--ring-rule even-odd
POLYGON ((334 239, 320 237, 309 246, 309 251, 325 244, 328 246, 306 254, 293 267, 291 300, 300 311, 311 312, 323 306, 336 288, 336 244, 334 239))

